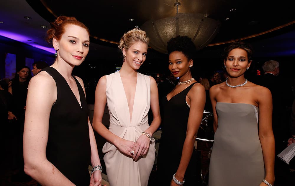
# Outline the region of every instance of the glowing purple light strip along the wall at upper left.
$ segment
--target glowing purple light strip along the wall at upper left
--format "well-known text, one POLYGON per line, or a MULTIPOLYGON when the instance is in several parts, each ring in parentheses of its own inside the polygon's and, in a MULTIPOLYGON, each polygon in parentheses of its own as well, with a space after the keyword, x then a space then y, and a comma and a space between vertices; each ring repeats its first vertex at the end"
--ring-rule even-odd
POLYGON ((5 31, 5 30, 0 30, 0 35, 4 36, 4 37, 8 37, 8 38, 13 39, 13 40, 17 40, 17 41, 22 42, 22 43, 26 43, 28 45, 31 45, 31 46, 35 47, 35 48, 39 48, 41 50, 45 50, 45 51, 50 52, 50 53, 55 53, 55 50, 53 50, 54 49, 53 47, 45 47, 45 46, 42 46, 42 45, 38 45, 36 43, 32 43, 31 41, 27 40, 28 37, 25 36, 25 35, 13 33, 13 32, 8 32, 8 31, 5 31))

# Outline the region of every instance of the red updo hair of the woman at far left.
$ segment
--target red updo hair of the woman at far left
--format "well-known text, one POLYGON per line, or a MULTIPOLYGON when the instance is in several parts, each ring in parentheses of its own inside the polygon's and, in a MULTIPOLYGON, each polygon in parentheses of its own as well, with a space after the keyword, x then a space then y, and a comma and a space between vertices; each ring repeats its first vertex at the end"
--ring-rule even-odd
POLYGON ((65 33, 67 25, 77 25, 85 28, 89 34, 89 29, 75 17, 60 16, 54 22, 51 23, 51 28, 47 31, 46 41, 48 43, 52 42, 53 37, 60 40, 61 36, 65 33))

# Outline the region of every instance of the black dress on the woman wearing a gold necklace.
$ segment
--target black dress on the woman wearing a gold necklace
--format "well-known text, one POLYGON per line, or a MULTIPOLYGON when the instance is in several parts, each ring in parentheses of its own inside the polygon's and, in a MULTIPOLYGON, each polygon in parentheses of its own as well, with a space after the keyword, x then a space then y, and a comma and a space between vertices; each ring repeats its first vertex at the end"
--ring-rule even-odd
MULTIPOLYGON (((189 118, 186 95, 194 84, 173 96, 169 101, 166 96, 162 99, 163 126, 157 158, 157 174, 161 186, 170 185, 172 176, 179 166, 189 118)), ((196 185, 196 172, 197 158, 194 149, 184 175, 183 185, 196 185)))

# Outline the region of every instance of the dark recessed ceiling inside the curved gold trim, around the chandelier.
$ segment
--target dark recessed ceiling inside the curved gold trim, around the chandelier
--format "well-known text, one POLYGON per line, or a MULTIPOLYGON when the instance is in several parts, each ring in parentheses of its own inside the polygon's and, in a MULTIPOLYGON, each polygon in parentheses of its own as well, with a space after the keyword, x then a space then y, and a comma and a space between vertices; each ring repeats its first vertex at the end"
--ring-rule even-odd
MULTIPOLYGON (((135 26, 140 27, 150 19, 157 20, 176 14, 174 6, 176 0, 27 0, 27 2, 48 22, 60 15, 73 16, 89 27, 91 36, 98 38, 96 40, 112 42, 118 42, 124 32, 135 26)), ((201 13, 221 23, 219 33, 209 46, 289 27, 295 20, 294 1, 282 0, 272 3, 264 0, 179 0, 179 2, 181 3, 179 13, 201 13)), ((98 43, 104 44, 104 42, 98 43)))

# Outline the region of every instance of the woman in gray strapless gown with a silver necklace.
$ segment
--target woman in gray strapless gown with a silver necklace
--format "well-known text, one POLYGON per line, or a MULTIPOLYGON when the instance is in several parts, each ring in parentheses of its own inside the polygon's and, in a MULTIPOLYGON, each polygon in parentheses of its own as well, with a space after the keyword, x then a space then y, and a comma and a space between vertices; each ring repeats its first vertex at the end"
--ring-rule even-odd
POLYGON ((244 77, 252 62, 249 44, 232 43, 224 53, 229 76, 210 88, 215 135, 209 186, 273 185, 271 92, 244 77))

